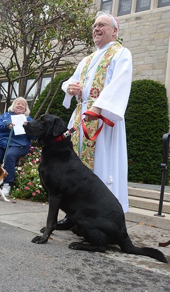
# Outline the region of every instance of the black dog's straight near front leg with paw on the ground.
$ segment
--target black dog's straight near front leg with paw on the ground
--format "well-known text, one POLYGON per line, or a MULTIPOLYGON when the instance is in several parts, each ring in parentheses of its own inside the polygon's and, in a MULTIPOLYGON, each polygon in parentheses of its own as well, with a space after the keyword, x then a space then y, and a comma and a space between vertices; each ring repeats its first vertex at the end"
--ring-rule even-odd
POLYGON ((60 200, 54 196, 49 196, 49 213, 47 217, 47 227, 42 236, 36 236, 32 242, 42 244, 48 241, 52 231, 54 230, 54 223, 58 217, 60 200))

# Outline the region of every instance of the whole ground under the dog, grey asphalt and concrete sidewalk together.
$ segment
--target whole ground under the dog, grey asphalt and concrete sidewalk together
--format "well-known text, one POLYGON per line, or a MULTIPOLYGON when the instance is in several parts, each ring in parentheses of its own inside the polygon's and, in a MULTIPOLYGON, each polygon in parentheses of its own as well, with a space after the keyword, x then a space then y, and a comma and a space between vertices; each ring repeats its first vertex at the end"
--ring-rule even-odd
MULTIPOLYGON (((54 231, 46 244, 31 242, 46 226, 48 204, 0 198, 0 292, 170 292, 170 264, 146 256, 123 254, 119 246, 105 253, 74 251, 80 238, 54 231)), ((60 211, 58 219, 65 216, 60 211)), ((170 231, 126 221, 137 246, 159 249, 170 262, 170 231)))

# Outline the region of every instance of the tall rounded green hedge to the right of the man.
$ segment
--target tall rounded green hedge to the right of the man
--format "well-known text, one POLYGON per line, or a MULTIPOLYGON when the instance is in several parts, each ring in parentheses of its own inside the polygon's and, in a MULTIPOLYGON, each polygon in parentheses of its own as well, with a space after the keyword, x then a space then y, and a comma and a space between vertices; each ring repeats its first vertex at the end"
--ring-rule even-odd
MULTIPOLYGON (((161 184, 162 136, 169 132, 165 86, 153 80, 133 81, 125 123, 128 181, 161 184)), ((169 173, 168 167, 166 184, 169 173)))

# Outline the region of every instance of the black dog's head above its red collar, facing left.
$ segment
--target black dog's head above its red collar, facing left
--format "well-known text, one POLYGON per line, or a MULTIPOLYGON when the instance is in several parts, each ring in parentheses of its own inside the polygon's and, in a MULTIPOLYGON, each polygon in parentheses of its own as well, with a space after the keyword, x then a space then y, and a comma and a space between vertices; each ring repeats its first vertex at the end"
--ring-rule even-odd
POLYGON ((64 121, 55 115, 44 114, 35 121, 23 124, 27 135, 38 138, 39 145, 51 144, 54 138, 68 130, 64 121))

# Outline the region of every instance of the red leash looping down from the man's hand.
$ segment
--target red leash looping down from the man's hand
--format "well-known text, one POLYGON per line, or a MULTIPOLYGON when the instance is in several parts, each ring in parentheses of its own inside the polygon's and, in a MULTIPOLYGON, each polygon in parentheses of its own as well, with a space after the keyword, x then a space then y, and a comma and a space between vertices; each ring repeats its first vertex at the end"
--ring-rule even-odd
POLYGON ((97 136, 100 134, 100 132, 101 132, 101 130, 102 130, 102 127, 103 127, 103 123, 107 124, 108 126, 110 126, 110 127, 112 127, 112 128, 113 128, 114 125, 115 125, 113 122, 111 122, 111 121, 108 120, 107 118, 103 117, 102 114, 99 115, 99 114, 97 114, 97 113, 95 113, 95 112, 93 112, 93 111, 90 111, 90 110, 87 110, 86 112, 82 113, 82 115, 81 115, 81 123, 82 123, 82 128, 83 128, 83 131, 84 131, 85 137, 86 137, 88 140, 91 140, 91 141, 95 140, 95 139, 97 138, 97 136), (82 116, 83 116, 84 114, 90 114, 90 115, 92 115, 93 117, 97 117, 97 118, 100 118, 100 119, 102 120, 102 125, 101 125, 101 127, 98 128, 98 130, 96 131, 96 133, 94 134, 94 136, 91 137, 91 138, 88 136, 87 129, 86 129, 85 124, 84 124, 84 119, 82 119, 82 116))

